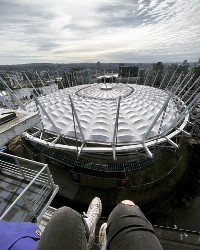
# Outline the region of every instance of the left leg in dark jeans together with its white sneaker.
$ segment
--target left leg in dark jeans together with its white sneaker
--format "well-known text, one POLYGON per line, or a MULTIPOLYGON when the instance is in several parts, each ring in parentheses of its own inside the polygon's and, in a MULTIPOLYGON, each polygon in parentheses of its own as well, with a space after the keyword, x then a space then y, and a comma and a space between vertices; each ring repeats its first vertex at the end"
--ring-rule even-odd
POLYGON ((69 207, 58 209, 47 224, 37 250, 90 249, 101 211, 102 204, 98 197, 91 201, 84 215, 69 207))

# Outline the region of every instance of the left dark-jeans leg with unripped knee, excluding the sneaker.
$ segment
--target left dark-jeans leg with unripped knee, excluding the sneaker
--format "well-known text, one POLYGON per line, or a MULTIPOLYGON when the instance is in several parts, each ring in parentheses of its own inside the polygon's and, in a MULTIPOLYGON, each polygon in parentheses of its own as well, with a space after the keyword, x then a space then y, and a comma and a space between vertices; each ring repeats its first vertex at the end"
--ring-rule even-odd
POLYGON ((47 224, 37 250, 86 250, 86 230, 78 212, 69 207, 59 208, 47 224))

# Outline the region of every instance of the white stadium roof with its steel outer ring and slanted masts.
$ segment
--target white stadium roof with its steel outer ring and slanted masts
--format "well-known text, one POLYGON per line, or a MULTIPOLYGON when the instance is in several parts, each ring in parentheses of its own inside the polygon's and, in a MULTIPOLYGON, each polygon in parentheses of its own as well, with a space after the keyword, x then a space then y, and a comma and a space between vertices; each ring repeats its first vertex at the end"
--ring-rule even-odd
POLYGON ((94 83, 34 96, 26 110, 39 111, 41 126, 25 136, 48 148, 79 155, 105 153, 116 159, 118 153, 142 150, 152 158, 153 147, 163 143, 178 147, 173 138, 187 134, 189 112, 199 99, 197 91, 188 97, 188 82, 179 79, 170 89, 94 83), (61 138, 67 143, 60 143, 61 138))

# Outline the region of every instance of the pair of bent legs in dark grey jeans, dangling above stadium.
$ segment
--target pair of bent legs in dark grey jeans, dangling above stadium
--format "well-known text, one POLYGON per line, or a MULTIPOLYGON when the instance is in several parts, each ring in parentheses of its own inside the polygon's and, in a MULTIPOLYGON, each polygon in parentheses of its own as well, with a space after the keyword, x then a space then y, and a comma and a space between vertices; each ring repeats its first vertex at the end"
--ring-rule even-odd
MULTIPOLYGON (((91 209, 89 207, 88 210, 94 215, 93 222, 95 223, 93 225, 92 222, 88 221, 88 212, 82 216, 68 207, 58 209, 49 221, 37 250, 90 249, 91 238, 94 236, 91 237, 91 234, 94 233, 94 227, 100 216, 97 213, 101 210, 97 208, 94 212, 94 209, 95 205, 91 209)), ((139 207, 129 200, 122 201, 111 212, 106 228, 106 243, 103 244, 102 248, 105 245, 106 249, 110 250, 162 249, 150 222, 139 207)))

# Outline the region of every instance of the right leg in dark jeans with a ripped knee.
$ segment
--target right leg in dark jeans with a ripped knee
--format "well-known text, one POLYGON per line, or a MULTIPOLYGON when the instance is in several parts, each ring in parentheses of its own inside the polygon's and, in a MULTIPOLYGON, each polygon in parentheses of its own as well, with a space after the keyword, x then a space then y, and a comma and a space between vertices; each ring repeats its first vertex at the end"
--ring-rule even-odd
POLYGON ((151 223, 132 201, 119 203, 111 212, 107 223, 108 250, 160 250, 151 223))

